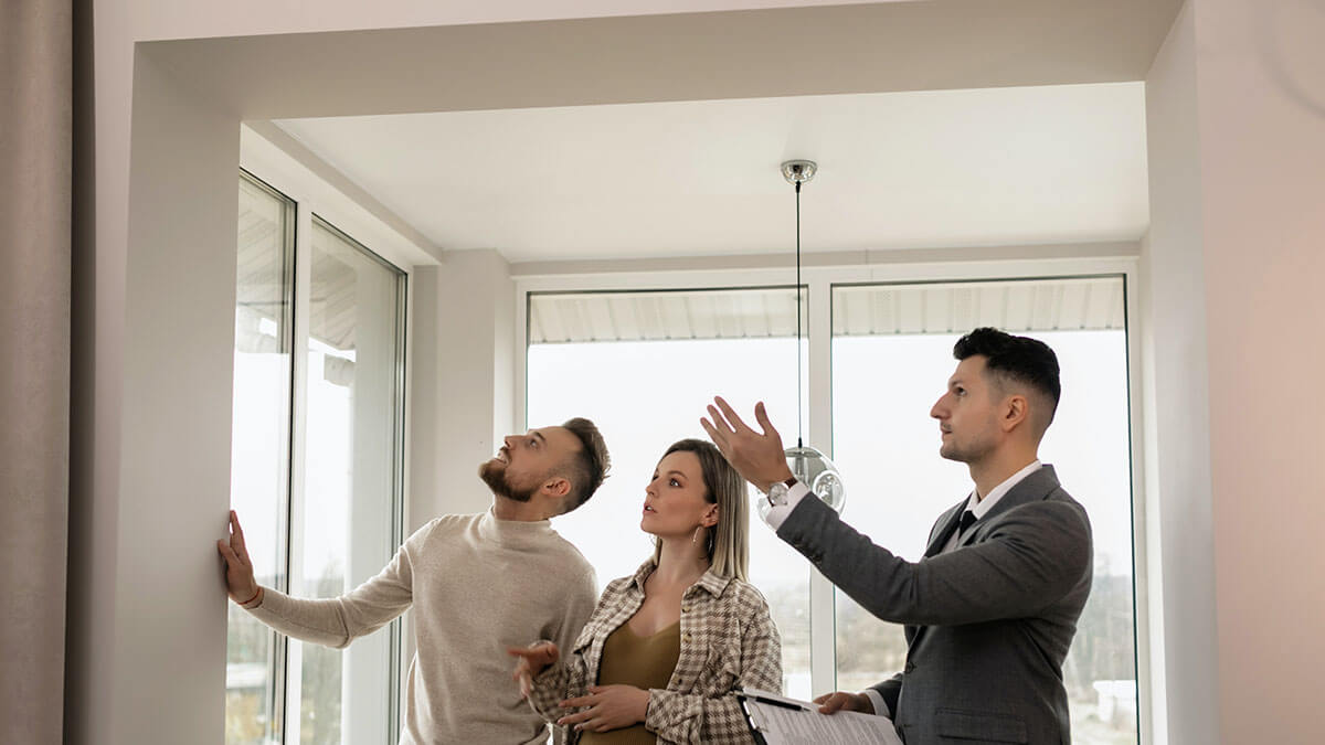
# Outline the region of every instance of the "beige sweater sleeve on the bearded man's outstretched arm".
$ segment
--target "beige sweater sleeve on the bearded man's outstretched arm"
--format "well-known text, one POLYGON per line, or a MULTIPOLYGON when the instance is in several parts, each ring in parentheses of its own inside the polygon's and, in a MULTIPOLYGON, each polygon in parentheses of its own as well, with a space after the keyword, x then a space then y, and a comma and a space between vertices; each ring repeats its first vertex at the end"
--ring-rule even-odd
POLYGON ((281 634, 342 650, 359 636, 382 628, 413 602, 409 546, 424 530, 427 528, 405 541, 376 577, 344 595, 305 599, 264 587, 261 603, 246 610, 281 634))

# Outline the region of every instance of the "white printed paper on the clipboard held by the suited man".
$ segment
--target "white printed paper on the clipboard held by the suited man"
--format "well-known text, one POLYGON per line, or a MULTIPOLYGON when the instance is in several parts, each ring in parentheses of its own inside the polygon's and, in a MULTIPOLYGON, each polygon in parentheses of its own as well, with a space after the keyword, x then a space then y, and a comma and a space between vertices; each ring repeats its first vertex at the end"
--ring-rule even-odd
POLYGON ((737 692, 768 745, 902 745, 893 720, 860 712, 819 713, 819 705, 746 688, 737 692))

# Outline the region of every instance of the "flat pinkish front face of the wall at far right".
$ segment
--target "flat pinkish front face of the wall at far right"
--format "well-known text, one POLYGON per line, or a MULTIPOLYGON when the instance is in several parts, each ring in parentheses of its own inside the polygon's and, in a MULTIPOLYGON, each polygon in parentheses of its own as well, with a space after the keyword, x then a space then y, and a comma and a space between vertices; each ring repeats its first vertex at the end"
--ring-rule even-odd
POLYGON ((1325 7, 1196 9, 1226 742, 1320 742, 1325 7))

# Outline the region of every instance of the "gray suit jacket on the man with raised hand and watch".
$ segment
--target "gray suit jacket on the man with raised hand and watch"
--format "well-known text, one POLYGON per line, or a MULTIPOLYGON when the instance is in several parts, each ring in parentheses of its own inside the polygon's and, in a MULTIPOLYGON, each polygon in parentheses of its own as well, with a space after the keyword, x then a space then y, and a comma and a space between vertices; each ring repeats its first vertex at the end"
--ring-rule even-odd
POLYGON ((873 688, 908 745, 1067 745, 1063 687, 1090 594, 1090 521, 1044 465, 938 554, 966 500, 945 512, 918 562, 876 546, 816 498, 778 536, 876 616, 906 624, 906 667, 873 688))

